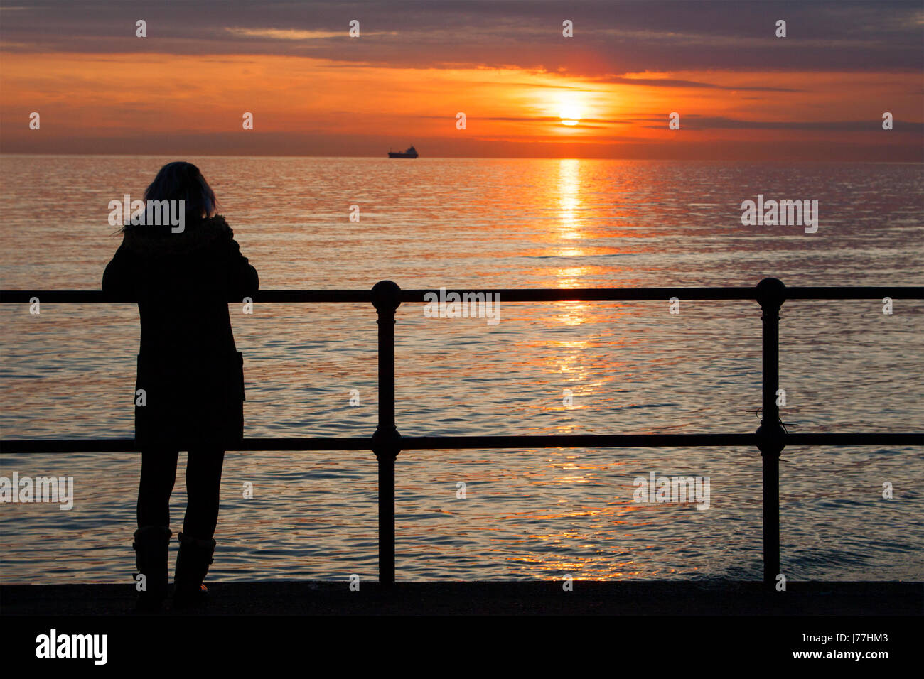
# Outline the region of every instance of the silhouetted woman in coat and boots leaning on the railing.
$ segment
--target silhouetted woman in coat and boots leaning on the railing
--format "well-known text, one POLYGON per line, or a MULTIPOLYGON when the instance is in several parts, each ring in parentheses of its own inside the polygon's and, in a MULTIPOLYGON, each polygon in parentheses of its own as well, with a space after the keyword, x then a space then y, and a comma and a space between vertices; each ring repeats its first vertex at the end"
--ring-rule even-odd
MULTIPOLYGON (((122 245, 103 273, 103 291, 137 299, 140 311, 135 440, 142 452, 133 547, 146 581, 139 607, 151 610, 167 594, 169 503, 180 450, 188 452, 188 506, 178 536, 174 606, 205 596, 225 450, 241 441, 244 430, 243 357, 231 333, 228 300, 252 296, 259 279, 234 232, 215 213, 214 192, 198 167, 164 165, 144 200, 148 223, 122 228, 122 245), (165 218, 164 225, 151 224, 152 212, 163 208, 155 204, 151 211, 152 200, 184 201, 182 229, 165 218)), ((178 217, 179 203, 173 206, 178 217)))

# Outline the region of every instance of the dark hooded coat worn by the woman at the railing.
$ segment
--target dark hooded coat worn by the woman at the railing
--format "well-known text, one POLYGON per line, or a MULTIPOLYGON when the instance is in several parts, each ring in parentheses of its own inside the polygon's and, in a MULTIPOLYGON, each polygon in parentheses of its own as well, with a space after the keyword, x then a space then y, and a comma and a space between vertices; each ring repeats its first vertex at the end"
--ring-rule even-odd
MULTIPOLYGON (((228 300, 257 292, 257 270, 218 215, 169 226, 128 225, 103 292, 138 299, 141 346, 135 441, 142 448, 233 449, 244 435, 243 356, 228 300)), ((240 309, 240 307, 238 307, 240 309)))

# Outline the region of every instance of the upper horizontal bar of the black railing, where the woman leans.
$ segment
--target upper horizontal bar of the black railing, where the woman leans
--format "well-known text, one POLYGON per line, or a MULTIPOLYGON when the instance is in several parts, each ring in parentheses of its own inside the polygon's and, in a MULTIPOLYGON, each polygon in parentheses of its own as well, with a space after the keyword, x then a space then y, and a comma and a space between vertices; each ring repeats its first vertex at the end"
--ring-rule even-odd
MULTIPOLYGON (((556 302, 556 301, 666 301, 671 297, 683 300, 750 300, 757 298, 756 287, 580 287, 580 288, 500 288, 454 289, 445 295, 483 292, 500 295, 502 302, 556 302)), ((429 301, 428 293, 440 294, 439 289, 401 290, 398 299, 403 303, 429 301)), ((29 303, 38 297, 45 303, 111 302, 134 303, 136 297, 113 295, 102 290, 0 290, 0 302, 29 303)), ((786 287, 786 299, 924 299, 924 286, 881 287, 786 287)), ((371 290, 261 290, 252 296, 254 302, 355 302, 371 303, 371 290)), ((237 297, 229 302, 239 302, 237 297)))

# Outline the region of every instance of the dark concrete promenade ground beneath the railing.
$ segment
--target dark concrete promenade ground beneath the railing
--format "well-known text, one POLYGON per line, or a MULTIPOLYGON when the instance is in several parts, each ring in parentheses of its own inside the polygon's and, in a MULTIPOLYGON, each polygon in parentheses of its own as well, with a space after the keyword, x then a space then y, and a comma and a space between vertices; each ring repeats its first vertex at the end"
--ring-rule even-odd
MULTIPOLYGON (((565 592, 549 582, 407 582, 385 592, 347 581, 207 583, 209 615, 920 615, 924 583, 591 582, 565 592)), ((0 615, 126 615, 125 585, 4 585, 0 615)), ((170 611, 167 603, 163 614, 170 611)))

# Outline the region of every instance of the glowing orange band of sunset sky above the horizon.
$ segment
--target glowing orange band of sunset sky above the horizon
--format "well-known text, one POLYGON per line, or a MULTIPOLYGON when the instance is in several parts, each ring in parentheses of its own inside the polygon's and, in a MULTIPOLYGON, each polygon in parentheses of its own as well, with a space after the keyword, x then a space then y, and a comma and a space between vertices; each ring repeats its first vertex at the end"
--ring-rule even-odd
MULTIPOLYGON (((263 31, 261 39, 284 53, 294 42, 333 40, 291 31, 263 31)), ((919 72, 611 73, 602 61, 590 51, 580 68, 550 70, 296 54, 42 52, 16 43, 0 52, 0 151, 382 155, 413 143, 424 156, 922 160, 919 72), (33 111, 40 130, 29 129, 33 111), (894 130, 881 129, 884 111, 894 114, 894 130), (244 112, 253 114, 253 130, 243 129, 244 112), (456 129, 458 112, 467 116, 464 130, 456 129), (680 114, 679 130, 668 128, 671 112, 680 114), (563 116, 580 119, 565 125, 563 116)))

